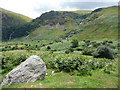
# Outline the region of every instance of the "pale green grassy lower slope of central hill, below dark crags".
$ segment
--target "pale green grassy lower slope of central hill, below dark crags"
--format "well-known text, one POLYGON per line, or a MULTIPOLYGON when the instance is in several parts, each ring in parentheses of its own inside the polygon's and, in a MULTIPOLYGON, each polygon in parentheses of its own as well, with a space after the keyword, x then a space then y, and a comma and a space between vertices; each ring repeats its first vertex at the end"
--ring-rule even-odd
POLYGON ((33 40, 49 40, 54 41, 58 39, 62 39, 67 33, 71 30, 77 30, 79 27, 73 25, 72 23, 65 23, 64 25, 60 25, 57 27, 56 25, 53 26, 41 26, 33 30, 30 35, 26 38, 22 38, 23 41, 30 41, 30 38, 33 40), (65 31, 65 29, 67 29, 65 31))

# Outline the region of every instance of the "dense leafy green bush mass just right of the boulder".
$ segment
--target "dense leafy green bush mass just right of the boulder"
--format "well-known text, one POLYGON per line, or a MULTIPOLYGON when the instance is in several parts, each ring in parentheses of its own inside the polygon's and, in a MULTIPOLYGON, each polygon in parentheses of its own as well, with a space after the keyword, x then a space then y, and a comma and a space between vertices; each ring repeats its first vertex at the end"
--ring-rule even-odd
MULTIPOLYGON (((46 59, 47 60, 47 59, 46 59)), ((77 75, 92 75, 92 70, 103 69, 107 67, 107 70, 110 71, 112 61, 109 59, 96 59, 85 56, 77 56, 72 54, 63 54, 63 55, 50 55, 50 58, 47 60, 47 68, 53 68, 57 72, 71 72, 70 74, 77 75)))

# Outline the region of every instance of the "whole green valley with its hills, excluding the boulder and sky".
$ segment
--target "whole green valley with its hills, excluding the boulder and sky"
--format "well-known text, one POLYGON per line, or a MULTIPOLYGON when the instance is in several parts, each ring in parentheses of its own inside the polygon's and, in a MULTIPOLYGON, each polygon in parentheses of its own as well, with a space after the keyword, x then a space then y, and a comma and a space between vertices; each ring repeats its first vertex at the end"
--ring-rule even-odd
POLYGON ((1 81, 31 55, 47 67, 42 81, 3 88, 118 88, 118 7, 50 11, 36 19, 3 10, 1 81))

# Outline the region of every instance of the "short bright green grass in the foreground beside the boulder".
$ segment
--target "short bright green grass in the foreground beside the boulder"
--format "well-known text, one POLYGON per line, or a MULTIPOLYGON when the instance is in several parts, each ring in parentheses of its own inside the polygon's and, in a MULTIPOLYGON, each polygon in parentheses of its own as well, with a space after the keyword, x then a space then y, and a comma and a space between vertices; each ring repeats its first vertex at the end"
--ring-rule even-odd
POLYGON ((3 88, 117 88, 118 76, 114 72, 106 74, 102 71, 94 71, 92 76, 71 76, 68 73, 59 72, 52 75, 52 69, 48 69, 48 75, 43 81, 30 83, 18 83, 3 88))

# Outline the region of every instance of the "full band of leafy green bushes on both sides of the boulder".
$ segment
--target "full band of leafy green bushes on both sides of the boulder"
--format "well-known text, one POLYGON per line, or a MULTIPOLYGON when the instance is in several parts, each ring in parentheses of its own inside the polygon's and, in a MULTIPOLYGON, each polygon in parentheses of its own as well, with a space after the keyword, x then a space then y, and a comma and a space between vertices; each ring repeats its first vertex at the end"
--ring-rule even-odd
MULTIPOLYGON (((77 71, 76 74, 79 76, 91 75, 91 71, 96 69, 102 69, 108 72, 115 64, 114 60, 105 58, 97 59, 83 55, 52 53, 35 54, 43 59, 48 69, 70 73, 77 71)), ((2 58, 2 69, 4 69, 4 72, 9 72, 31 55, 33 55, 33 53, 3 53, 3 55, 0 56, 0 58, 2 58)))

